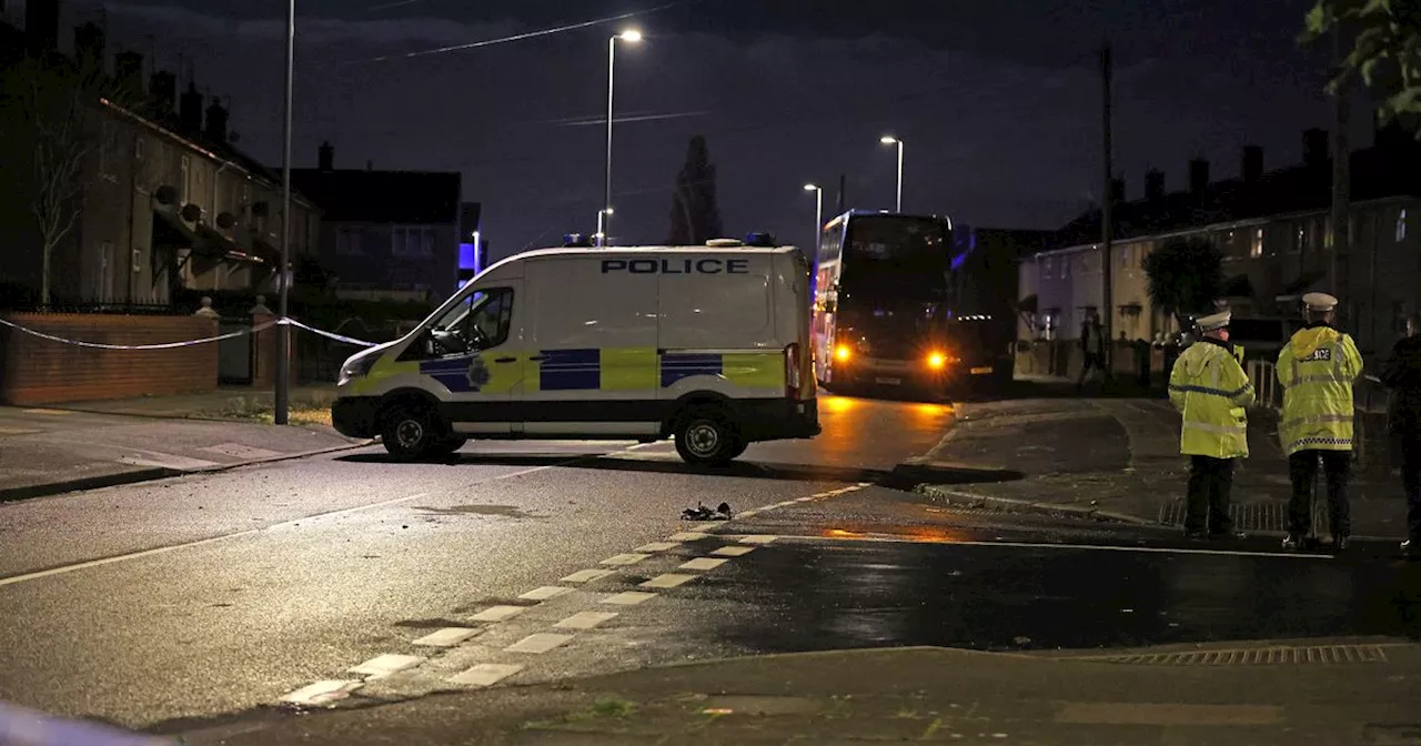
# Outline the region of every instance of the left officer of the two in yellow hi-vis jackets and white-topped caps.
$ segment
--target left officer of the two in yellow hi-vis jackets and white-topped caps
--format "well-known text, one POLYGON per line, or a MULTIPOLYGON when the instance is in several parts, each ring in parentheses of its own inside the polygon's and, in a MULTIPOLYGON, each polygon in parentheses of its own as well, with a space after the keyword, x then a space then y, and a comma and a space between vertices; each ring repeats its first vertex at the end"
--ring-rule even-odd
POLYGON ((1169 371, 1169 402, 1184 415, 1179 453, 1189 456, 1184 531, 1189 539, 1243 539, 1233 531, 1233 460, 1248 458, 1253 384, 1229 347, 1229 311, 1199 318, 1204 338, 1169 371))

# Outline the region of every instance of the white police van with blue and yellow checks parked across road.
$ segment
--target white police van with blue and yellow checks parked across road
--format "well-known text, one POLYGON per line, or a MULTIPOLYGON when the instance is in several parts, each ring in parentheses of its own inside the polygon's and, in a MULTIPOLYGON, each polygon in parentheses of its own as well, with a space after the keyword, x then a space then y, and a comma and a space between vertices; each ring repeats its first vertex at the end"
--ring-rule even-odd
POLYGON ((725 465, 818 435, 809 333, 794 247, 544 249, 347 360, 331 419, 404 459, 469 438, 672 438, 688 463, 725 465))

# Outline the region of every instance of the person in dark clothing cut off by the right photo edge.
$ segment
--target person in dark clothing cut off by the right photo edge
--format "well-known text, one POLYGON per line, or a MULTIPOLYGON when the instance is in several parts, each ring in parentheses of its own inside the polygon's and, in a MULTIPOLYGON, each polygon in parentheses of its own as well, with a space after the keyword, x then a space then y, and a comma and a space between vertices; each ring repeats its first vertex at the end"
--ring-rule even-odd
POLYGON ((1381 367, 1391 388, 1387 431, 1401 446, 1401 486, 1407 492, 1407 540, 1401 551, 1421 560, 1421 315, 1407 317, 1407 334, 1381 367))

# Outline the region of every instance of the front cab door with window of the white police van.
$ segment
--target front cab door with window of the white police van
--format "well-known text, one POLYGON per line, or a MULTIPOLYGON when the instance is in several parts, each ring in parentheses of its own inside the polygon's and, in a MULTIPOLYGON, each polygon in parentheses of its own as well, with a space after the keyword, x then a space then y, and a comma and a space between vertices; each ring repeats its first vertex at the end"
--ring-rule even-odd
POLYGON ((441 413, 455 432, 509 435, 522 421, 522 284, 480 287, 429 328, 419 372, 443 386, 441 413))

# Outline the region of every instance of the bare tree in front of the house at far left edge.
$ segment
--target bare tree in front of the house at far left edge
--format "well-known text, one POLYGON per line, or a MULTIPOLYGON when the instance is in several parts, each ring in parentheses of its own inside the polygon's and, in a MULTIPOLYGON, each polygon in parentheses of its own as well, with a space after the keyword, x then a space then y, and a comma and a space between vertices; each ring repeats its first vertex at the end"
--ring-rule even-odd
POLYGON ((115 95, 102 71, 63 57, 27 57, 3 72, 0 168, 40 242, 40 303, 48 306, 54 250, 72 233, 92 178, 90 166, 115 146, 115 95))

